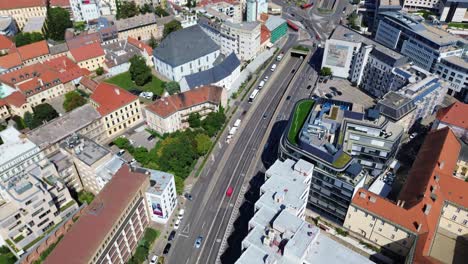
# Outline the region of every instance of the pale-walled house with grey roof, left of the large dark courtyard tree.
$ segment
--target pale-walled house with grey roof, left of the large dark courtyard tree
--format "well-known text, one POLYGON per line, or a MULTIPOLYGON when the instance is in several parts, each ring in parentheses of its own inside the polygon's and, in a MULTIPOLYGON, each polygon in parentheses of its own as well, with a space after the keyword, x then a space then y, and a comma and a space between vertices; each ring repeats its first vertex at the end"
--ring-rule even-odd
POLYGON ((127 40, 104 44, 102 48, 106 54, 104 70, 107 78, 128 71, 130 59, 141 55, 141 51, 137 47, 129 45, 127 40))

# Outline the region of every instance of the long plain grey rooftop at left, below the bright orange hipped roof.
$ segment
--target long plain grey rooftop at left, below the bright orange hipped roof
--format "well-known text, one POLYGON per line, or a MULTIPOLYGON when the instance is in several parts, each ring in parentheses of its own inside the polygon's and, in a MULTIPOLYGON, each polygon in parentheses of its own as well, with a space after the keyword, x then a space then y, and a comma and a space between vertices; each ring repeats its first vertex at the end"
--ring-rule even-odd
POLYGON ((45 125, 31 130, 27 133, 27 136, 40 148, 45 148, 80 131, 99 118, 101 118, 101 115, 94 107, 91 104, 85 104, 45 125))

